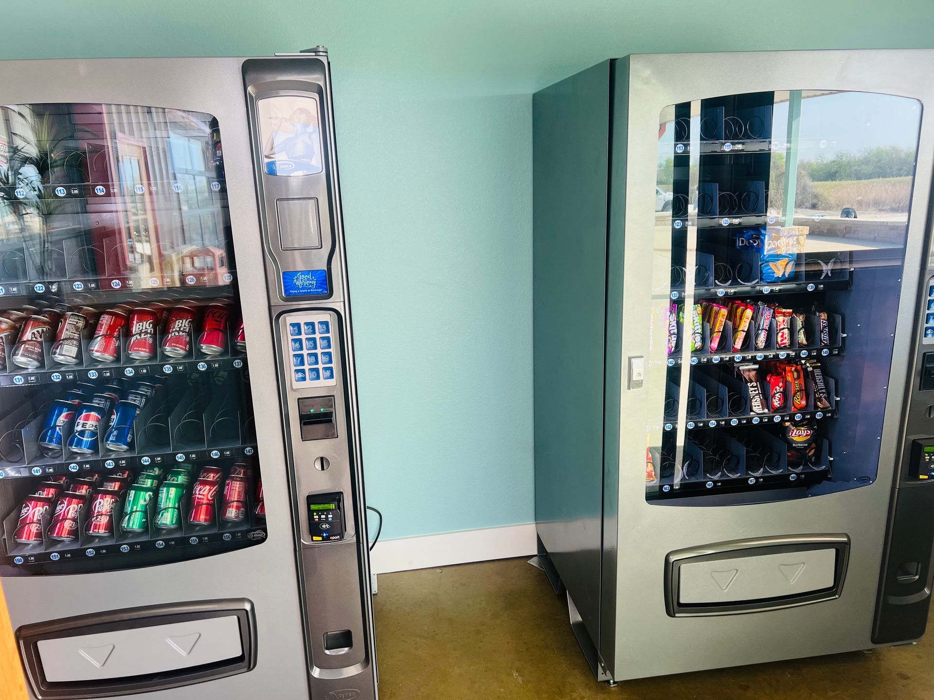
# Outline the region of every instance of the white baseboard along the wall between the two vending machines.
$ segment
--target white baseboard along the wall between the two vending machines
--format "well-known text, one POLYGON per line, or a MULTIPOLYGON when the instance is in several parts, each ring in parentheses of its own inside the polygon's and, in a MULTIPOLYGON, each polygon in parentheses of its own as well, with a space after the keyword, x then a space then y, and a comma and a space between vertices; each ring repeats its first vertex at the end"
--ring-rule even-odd
POLYGON ((536 553, 535 524, 484 527, 412 538, 381 539, 370 553, 374 573, 446 567, 531 556, 536 553))

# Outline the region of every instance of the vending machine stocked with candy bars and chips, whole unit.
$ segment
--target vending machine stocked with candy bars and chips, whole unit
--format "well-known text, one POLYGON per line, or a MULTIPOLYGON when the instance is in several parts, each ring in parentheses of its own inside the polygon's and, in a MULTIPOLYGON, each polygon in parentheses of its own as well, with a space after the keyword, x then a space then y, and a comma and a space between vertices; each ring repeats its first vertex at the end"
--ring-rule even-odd
POLYGON ((535 94, 537 531, 598 679, 924 633, 932 67, 634 55, 535 94))

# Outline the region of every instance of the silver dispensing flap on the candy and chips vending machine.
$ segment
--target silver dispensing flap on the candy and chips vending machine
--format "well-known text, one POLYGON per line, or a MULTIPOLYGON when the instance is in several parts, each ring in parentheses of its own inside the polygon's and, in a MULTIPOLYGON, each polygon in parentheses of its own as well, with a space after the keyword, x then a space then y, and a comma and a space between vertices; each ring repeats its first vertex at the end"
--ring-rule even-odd
POLYGON ((837 550, 736 556, 681 565, 679 603, 727 603, 830 588, 837 550))

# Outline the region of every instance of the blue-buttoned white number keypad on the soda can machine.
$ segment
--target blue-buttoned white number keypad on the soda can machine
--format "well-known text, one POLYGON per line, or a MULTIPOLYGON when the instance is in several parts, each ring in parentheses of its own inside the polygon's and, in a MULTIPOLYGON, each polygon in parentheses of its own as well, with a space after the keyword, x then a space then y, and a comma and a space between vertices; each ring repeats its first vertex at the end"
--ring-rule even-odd
POLYGON ((286 317, 285 363, 293 389, 337 384, 334 369, 334 328, 330 314, 290 314, 286 317))

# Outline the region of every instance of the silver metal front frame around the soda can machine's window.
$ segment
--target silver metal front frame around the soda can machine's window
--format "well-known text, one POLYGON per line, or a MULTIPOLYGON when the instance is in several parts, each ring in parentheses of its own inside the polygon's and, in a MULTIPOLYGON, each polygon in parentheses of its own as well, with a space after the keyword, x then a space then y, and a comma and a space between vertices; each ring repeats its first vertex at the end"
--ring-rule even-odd
POLYGON ((77 576, 6 578, 2 581, 14 628, 24 623, 108 609, 210 598, 248 598, 255 606, 258 662, 247 674, 149 693, 153 700, 262 697, 275 687, 283 697, 308 694, 302 638, 291 499, 279 396, 276 353, 269 324, 265 273, 244 108, 243 59, 127 59, 23 61, 0 64, 0 102, 75 102, 153 105, 208 112, 219 120, 241 303, 248 337, 250 377, 263 474, 269 539, 258 547, 168 567, 77 576))

